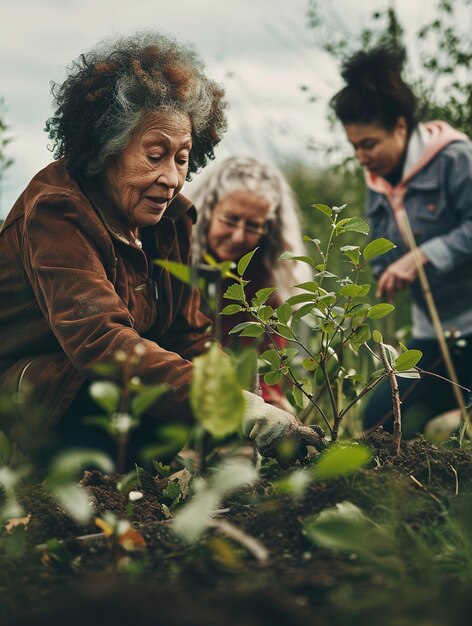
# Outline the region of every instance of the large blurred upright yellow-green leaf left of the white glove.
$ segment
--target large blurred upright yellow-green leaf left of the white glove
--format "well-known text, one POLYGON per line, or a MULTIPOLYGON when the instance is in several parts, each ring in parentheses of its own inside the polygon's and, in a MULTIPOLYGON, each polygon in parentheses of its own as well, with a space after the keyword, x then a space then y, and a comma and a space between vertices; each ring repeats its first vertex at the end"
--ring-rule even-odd
POLYGON ((230 358, 213 343, 193 365, 190 405, 197 421, 216 438, 236 432, 245 402, 230 358))

